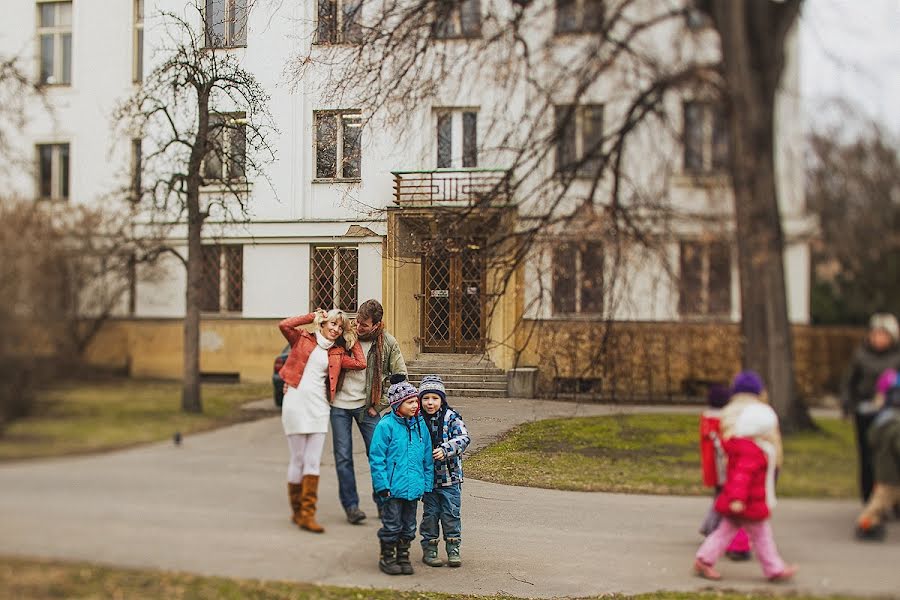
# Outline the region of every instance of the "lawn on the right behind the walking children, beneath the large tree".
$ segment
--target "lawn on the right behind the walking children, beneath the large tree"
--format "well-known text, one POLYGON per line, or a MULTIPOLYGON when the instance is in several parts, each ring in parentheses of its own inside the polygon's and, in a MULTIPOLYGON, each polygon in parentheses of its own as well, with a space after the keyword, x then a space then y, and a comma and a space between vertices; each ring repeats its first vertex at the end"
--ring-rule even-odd
MULTIPOLYGON (((785 438, 780 496, 855 493, 851 426, 785 438)), ((633 414, 521 425, 465 461, 468 477, 509 485, 648 494, 708 494, 700 474, 698 417, 633 414)))

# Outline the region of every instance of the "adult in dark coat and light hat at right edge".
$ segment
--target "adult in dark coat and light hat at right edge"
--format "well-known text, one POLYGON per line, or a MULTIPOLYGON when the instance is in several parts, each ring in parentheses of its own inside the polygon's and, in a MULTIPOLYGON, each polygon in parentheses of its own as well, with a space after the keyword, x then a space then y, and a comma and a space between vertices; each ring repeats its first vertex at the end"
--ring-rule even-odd
POLYGON ((869 333, 853 353, 844 378, 841 408, 844 416, 853 416, 856 445, 859 453, 859 490, 863 503, 869 501, 874 485, 872 452, 867 432, 878 407, 875 404, 875 383, 887 369, 900 370, 900 326, 894 315, 879 313, 869 319, 869 333))

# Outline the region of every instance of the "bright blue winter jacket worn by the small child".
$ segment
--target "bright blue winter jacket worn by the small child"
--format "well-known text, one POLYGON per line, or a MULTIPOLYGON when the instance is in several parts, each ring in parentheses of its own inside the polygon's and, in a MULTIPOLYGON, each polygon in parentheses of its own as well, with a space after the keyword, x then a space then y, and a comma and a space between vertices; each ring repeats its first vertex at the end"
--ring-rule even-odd
POLYGON ((417 500, 434 486, 431 436, 422 417, 393 411, 378 421, 369 446, 372 489, 390 490, 392 498, 417 500))

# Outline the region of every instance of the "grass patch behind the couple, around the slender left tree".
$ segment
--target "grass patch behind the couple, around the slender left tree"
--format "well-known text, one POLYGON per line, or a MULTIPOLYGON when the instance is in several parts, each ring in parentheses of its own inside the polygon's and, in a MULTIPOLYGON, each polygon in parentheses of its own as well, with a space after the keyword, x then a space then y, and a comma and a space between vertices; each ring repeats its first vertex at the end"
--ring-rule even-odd
POLYGON ((111 379, 66 382, 43 390, 32 416, 0 435, 0 461, 101 452, 204 431, 253 418, 241 410, 271 397, 265 383, 204 384, 203 414, 181 412, 181 384, 111 379))

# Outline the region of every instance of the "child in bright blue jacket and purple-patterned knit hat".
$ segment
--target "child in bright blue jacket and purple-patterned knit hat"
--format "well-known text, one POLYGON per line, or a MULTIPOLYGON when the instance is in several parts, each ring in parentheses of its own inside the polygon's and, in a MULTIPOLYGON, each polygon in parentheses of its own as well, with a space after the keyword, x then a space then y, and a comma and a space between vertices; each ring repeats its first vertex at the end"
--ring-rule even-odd
POLYGON ((418 501, 434 484, 431 435, 419 415, 419 392, 404 375, 393 375, 391 410, 375 427, 369 446, 372 489, 382 499, 378 568, 412 575, 409 546, 416 537, 418 501))

